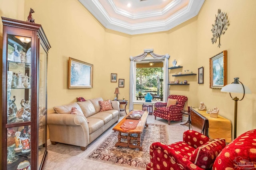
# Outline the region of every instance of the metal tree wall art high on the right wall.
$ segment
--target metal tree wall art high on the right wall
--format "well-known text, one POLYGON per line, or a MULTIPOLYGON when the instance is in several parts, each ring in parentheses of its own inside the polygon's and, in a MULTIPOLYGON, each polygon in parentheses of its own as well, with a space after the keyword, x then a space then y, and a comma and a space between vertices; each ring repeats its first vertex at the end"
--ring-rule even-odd
POLYGON ((230 25, 228 21, 228 16, 226 13, 221 12, 220 9, 218 9, 218 15, 216 16, 215 23, 212 24, 212 44, 216 43, 217 39, 219 38, 219 45, 220 48, 220 36, 225 33, 225 31, 228 29, 227 27, 230 25))

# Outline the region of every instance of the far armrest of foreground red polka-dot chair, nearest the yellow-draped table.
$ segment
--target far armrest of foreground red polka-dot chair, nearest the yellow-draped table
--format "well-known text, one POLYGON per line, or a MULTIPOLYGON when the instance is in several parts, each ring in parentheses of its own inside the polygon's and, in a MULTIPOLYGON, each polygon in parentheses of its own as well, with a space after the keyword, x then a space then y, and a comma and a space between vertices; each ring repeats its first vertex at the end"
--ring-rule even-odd
POLYGON ((188 130, 183 133, 183 142, 187 143, 193 148, 198 148, 210 140, 207 136, 197 131, 188 130))

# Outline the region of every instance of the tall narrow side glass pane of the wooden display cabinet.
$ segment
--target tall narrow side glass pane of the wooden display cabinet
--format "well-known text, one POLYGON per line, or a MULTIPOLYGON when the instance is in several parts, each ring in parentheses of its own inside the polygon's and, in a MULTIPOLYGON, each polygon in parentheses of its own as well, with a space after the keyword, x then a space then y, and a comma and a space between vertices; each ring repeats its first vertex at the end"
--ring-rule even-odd
POLYGON ((38 108, 38 166, 42 163, 42 157, 46 150, 46 78, 47 78, 47 53, 40 45, 39 55, 39 108, 38 108))

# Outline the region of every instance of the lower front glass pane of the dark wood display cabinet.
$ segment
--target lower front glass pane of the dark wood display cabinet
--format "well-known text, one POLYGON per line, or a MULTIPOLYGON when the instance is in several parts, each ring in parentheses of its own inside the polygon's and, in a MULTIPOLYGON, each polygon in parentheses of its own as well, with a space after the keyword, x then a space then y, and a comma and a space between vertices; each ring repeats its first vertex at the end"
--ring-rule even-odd
POLYGON ((7 169, 30 169, 30 126, 7 129, 7 169))

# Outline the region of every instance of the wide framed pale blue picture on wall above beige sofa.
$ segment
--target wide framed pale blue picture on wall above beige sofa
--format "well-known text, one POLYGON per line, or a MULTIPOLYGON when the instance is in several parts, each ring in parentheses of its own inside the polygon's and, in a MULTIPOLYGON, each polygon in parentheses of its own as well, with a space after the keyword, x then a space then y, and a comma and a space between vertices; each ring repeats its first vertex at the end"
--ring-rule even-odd
POLYGON ((68 88, 92 88, 93 64, 69 57, 68 88))

